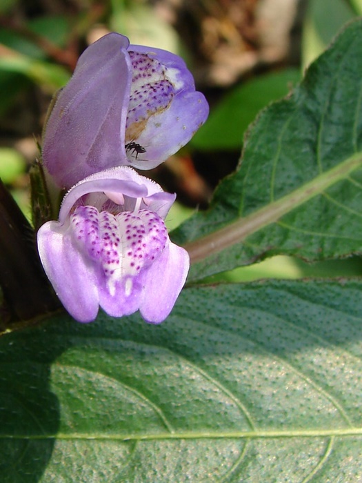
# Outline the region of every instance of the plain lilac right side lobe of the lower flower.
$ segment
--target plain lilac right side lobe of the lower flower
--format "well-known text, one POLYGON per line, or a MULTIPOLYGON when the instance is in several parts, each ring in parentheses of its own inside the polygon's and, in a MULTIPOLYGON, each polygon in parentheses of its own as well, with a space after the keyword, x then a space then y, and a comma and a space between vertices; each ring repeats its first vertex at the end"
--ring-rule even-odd
POLYGON ((185 284, 189 267, 188 252, 169 242, 145 273, 145 292, 139 311, 146 322, 159 324, 168 317, 185 284))

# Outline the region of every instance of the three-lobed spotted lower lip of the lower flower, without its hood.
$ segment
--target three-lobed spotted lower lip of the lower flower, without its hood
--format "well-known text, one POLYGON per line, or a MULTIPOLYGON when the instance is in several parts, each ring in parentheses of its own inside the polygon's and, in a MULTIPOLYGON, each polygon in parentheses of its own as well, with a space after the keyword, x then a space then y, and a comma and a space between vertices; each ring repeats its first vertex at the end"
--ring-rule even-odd
POLYGON ((185 250, 174 252, 163 219, 147 209, 110 213, 75 206, 63 225, 41 227, 38 246, 61 302, 80 322, 94 319, 98 306, 114 317, 143 307, 148 322, 161 322, 188 270, 185 250))

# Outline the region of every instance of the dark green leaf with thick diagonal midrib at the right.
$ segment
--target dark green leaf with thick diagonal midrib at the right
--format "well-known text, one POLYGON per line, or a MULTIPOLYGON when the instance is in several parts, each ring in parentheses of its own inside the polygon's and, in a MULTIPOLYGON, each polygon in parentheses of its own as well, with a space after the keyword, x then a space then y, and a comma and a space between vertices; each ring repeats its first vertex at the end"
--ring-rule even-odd
POLYGON ((276 253, 308 260, 360 253, 361 59, 359 20, 290 97, 259 115, 239 170, 221 183, 208 212, 174 234, 194 262, 210 255, 194 264, 190 280, 276 253))

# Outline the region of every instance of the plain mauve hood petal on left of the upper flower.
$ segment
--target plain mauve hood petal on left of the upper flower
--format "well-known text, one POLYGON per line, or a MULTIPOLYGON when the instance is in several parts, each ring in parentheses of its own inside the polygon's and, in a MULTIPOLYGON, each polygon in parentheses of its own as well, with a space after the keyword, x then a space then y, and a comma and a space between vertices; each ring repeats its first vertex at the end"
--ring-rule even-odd
POLYGON ((43 163, 61 188, 128 164, 125 122, 132 81, 128 39, 111 33, 79 58, 54 105, 43 137, 43 163))

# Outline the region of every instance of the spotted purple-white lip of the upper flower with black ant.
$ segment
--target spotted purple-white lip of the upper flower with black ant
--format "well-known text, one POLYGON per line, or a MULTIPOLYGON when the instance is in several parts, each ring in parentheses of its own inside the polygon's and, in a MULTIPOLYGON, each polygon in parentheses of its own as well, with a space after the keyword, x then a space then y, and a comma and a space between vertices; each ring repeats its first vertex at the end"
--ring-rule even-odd
POLYGON ((151 169, 177 152, 208 117, 208 103, 177 55, 130 46, 133 77, 125 131, 132 166, 151 169))

